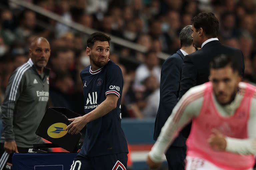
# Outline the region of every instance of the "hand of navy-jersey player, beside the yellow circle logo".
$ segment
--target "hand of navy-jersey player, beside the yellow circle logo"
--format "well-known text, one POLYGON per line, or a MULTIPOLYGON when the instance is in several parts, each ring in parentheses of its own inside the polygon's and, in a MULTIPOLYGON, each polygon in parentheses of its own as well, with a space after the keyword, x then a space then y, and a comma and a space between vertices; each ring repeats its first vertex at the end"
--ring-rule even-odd
POLYGON ((69 130, 68 132, 71 134, 78 134, 82 128, 87 124, 84 121, 84 117, 80 116, 73 119, 68 119, 68 121, 72 122, 65 130, 69 130))

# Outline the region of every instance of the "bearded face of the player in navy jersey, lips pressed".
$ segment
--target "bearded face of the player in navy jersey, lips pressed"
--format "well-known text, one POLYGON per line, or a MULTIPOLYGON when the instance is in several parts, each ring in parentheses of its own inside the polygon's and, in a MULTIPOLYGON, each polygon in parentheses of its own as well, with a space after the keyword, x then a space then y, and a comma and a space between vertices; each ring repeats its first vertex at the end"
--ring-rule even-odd
POLYGON ((89 51, 89 57, 91 65, 95 65, 99 68, 103 67, 107 63, 109 57, 109 43, 107 41, 94 42, 92 49, 89 51))

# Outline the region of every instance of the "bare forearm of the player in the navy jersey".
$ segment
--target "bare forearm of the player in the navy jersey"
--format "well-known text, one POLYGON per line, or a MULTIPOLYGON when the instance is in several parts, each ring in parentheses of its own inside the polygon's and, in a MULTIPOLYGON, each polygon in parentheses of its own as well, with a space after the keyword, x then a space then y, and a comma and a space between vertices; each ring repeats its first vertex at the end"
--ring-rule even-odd
POLYGON ((88 123, 106 115, 115 108, 116 104, 113 103, 113 101, 106 99, 96 109, 84 115, 83 117, 85 118, 85 121, 88 123))

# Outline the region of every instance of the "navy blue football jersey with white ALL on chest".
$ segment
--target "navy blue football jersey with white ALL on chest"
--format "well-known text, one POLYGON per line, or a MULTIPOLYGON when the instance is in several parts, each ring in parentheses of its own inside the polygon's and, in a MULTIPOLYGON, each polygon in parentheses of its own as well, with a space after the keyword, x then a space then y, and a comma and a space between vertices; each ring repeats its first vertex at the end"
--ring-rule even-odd
POLYGON ((83 82, 84 113, 97 108, 108 94, 118 96, 117 107, 86 125, 86 134, 79 154, 99 156, 128 153, 127 141, 121 128, 121 98, 123 75, 120 67, 111 60, 99 70, 89 65, 80 73, 83 82))

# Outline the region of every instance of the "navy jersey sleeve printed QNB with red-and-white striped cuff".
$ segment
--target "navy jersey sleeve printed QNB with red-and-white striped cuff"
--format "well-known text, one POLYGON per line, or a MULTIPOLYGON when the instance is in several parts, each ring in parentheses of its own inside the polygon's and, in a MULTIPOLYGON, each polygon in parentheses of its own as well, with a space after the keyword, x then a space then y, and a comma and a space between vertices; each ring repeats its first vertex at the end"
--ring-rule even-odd
POLYGON ((105 95, 115 94, 118 98, 122 95, 123 74, 118 65, 111 65, 107 71, 105 95))

